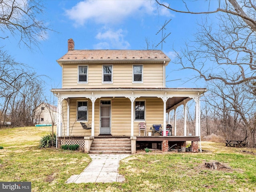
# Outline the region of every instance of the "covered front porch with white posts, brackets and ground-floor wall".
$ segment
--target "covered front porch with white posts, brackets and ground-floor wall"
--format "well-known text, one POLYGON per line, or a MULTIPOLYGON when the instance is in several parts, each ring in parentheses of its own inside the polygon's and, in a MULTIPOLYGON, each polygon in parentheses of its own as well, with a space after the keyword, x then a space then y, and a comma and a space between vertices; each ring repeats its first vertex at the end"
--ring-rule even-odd
MULTIPOLYGON (((54 89, 58 97, 57 137, 83 138, 87 149, 94 138, 128 137, 136 151, 136 142, 162 142, 162 150, 168 150, 168 142, 198 142, 200 140, 200 96, 206 89, 183 88, 105 88, 105 89, 54 89), (187 130, 187 102, 195 103, 195 126, 191 134, 187 130), (78 102, 86 102, 86 118, 78 118, 78 102), (184 124, 182 135, 177 135, 176 109, 184 106, 184 124), (103 112, 105 110, 104 115, 103 112), (172 135, 166 133, 170 122, 169 113, 173 112, 172 135), (102 123, 104 121, 104 124, 102 123), (145 134, 139 132, 138 124, 146 124, 145 134), (83 129, 81 123, 88 124, 90 129, 83 129), (162 126, 161 134, 152 134, 153 124, 162 126), (149 136, 151 133, 151 136, 149 136), (142 134, 140 136, 140 134, 142 134), (134 144, 135 142, 135 144, 134 144), (167 143, 167 144, 166 144, 167 143)), ((59 142, 59 145, 61 143, 59 142)), ((86 152, 86 147, 85 147, 86 152)))

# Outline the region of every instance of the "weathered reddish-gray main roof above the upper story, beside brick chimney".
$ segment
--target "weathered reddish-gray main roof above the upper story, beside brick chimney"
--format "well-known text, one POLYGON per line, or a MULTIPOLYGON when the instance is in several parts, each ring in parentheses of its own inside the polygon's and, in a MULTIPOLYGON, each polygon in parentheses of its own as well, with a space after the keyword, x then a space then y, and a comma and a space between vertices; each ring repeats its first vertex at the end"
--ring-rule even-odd
POLYGON ((160 50, 70 50, 57 62, 68 61, 165 61, 166 65, 170 58, 160 50))

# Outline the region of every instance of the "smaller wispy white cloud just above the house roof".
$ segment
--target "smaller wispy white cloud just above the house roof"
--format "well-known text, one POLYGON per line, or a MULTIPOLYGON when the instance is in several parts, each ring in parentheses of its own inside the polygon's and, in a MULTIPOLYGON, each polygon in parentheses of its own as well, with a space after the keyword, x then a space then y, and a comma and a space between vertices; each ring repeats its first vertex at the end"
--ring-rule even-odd
POLYGON ((108 29, 105 32, 99 32, 96 39, 102 41, 94 45, 95 49, 128 49, 129 42, 124 40, 126 32, 122 29, 116 31, 108 29))

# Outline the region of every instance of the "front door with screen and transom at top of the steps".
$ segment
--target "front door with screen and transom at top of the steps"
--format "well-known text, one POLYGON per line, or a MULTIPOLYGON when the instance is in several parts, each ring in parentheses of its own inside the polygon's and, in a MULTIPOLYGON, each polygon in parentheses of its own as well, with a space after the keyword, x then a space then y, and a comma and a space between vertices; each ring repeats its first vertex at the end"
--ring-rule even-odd
POLYGON ((111 134, 110 101, 101 101, 100 104, 100 134, 111 134))

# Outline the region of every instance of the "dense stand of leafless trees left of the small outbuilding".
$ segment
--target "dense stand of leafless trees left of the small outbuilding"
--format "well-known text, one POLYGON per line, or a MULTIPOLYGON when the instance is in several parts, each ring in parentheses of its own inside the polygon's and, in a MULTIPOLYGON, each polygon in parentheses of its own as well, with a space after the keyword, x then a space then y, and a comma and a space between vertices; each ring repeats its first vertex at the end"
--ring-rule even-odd
MULTIPOLYGON (((31 70, 31 69, 30 69, 31 70)), ((0 51, 0 122, 31 126, 43 98, 43 82, 34 72, 0 51)), ((1 125, 0 124, 0 125, 1 125)))

